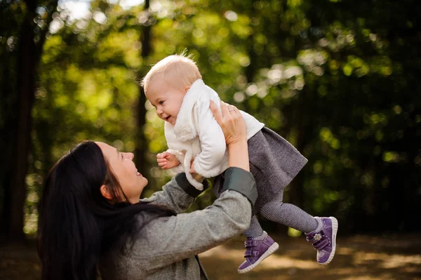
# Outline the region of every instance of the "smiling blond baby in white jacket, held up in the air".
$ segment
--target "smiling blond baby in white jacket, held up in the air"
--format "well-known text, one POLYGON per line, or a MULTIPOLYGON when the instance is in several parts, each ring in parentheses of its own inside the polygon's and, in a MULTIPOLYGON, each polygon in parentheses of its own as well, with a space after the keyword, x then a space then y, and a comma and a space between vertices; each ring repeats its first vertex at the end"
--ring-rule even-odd
MULTIPOLYGON (((190 173, 199 173, 205 178, 216 176, 213 189, 218 196, 228 168, 224 134, 209 108, 213 100, 220 109, 218 93, 203 83, 196 63, 185 55, 170 55, 156 63, 142 79, 142 86, 156 114, 166 121, 168 150, 156 156, 158 165, 185 172, 197 189, 203 189, 203 185, 190 173)), ((335 255, 338 220, 313 217, 293 204, 283 203, 284 189, 307 159, 265 124, 240 112, 246 122, 250 172, 258 187, 255 212, 305 232, 307 241, 317 250, 317 262, 327 265, 335 255)), ((263 231, 256 215, 244 235, 246 260, 239 266, 239 273, 249 272, 279 248, 263 231)))

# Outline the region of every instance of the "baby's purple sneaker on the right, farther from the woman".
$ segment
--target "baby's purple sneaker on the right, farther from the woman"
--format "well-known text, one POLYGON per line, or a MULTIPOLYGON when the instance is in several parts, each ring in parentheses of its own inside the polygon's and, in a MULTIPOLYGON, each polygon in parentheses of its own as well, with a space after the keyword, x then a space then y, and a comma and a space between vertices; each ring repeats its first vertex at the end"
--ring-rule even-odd
POLYGON ((314 218, 319 222, 319 226, 313 232, 306 233, 305 236, 317 250, 317 262, 327 265, 335 255, 338 220, 335 217, 314 218))

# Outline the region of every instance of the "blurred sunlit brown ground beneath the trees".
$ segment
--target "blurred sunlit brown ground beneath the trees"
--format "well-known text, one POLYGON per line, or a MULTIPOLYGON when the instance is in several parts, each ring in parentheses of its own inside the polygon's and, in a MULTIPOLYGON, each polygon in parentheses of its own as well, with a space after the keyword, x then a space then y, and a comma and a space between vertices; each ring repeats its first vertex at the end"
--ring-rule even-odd
MULTIPOLYGON (((349 236, 338 238, 338 250, 326 266, 316 263, 316 251, 300 238, 273 236, 279 251, 248 274, 238 274, 243 239, 232 239, 200 255, 210 279, 344 279, 421 280, 421 235, 349 236)), ((0 247, 0 279, 40 279, 34 242, 0 247)))

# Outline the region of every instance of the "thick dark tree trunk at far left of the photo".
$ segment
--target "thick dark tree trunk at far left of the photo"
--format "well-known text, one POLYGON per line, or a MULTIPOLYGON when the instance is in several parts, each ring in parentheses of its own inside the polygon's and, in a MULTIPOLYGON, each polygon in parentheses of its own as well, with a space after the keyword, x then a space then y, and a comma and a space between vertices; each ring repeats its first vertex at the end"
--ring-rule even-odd
MULTIPOLYGON (((4 201, 5 222, 4 232, 9 240, 22 241, 25 239, 23 232, 25 217, 25 199, 26 183, 25 178, 28 170, 28 155, 31 145, 32 131, 32 107, 36 91, 36 67, 41 58, 42 48, 46 39, 48 25, 53 20, 53 12, 56 11, 58 1, 52 1, 48 6, 48 17, 46 18, 46 27, 39 32, 39 42, 35 43, 34 17, 38 1, 26 0, 27 12, 22 20, 20 28, 20 38, 17 49, 17 83, 16 91, 17 102, 15 107, 15 130, 13 131, 14 141, 13 156, 11 156, 10 180, 6 182, 4 201)), ((8 179, 8 178, 6 178, 8 179)))

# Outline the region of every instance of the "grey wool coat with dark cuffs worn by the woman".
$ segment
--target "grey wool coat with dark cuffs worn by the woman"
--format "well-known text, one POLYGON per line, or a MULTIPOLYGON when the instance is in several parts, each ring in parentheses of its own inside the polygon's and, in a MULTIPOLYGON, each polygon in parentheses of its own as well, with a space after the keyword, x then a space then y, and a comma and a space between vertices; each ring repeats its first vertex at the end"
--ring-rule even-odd
POLYGON ((142 199, 164 205, 178 215, 156 217, 140 213, 139 220, 150 222, 137 234, 126 255, 112 250, 102 256, 102 279, 208 279, 197 254, 246 230, 251 205, 257 198, 253 175, 240 168, 227 170, 223 189, 213 205, 183 213, 201 192, 180 173, 161 192, 142 199))

